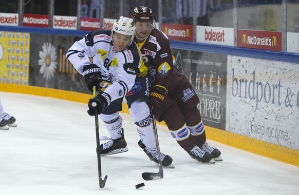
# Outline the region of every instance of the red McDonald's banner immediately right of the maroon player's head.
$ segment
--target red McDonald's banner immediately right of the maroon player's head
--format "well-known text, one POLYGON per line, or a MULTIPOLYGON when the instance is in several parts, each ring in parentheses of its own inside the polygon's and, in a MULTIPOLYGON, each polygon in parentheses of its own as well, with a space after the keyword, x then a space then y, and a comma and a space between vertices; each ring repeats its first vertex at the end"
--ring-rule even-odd
POLYGON ((170 40, 193 42, 192 25, 162 24, 161 31, 164 32, 170 40))

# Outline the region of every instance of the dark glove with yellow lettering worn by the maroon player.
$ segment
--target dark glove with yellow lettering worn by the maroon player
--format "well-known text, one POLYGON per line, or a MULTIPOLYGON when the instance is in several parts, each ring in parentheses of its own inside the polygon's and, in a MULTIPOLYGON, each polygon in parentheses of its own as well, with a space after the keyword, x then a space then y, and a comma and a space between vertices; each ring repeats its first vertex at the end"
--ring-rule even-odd
POLYGON ((149 92, 149 107, 153 110, 159 110, 166 94, 167 90, 164 87, 154 86, 149 92))

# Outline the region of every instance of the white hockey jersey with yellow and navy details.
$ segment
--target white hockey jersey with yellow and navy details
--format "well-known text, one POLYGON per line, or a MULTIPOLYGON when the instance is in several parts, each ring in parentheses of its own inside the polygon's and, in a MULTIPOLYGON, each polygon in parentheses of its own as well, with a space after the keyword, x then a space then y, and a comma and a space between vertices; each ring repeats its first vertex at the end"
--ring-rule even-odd
POLYGON ((141 52, 135 42, 123 51, 116 51, 109 30, 96 30, 87 34, 82 40, 75 42, 66 56, 74 68, 83 75, 83 66, 96 64, 103 77, 104 92, 110 102, 123 97, 134 85, 136 74, 142 66, 141 52), (106 88, 107 87, 107 88, 106 88))

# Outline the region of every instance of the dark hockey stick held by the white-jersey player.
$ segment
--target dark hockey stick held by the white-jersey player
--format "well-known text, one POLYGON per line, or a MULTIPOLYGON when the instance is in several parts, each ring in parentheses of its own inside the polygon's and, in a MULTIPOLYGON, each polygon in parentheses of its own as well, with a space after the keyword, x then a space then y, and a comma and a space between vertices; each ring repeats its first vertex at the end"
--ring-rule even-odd
MULTIPOLYGON (((94 98, 95 98, 97 96, 97 87, 96 86, 94 86, 94 88, 92 88, 92 92, 94 93, 94 98)), ((105 176, 104 180, 102 180, 101 149, 100 149, 100 133, 99 133, 99 115, 98 115, 98 110, 96 110, 95 121, 96 121, 96 138, 97 138, 97 156, 98 156, 99 184, 100 184, 100 188, 103 188, 103 187, 105 187, 105 183, 106 183, 106 180, 107 180, 107 175, 105 176)))

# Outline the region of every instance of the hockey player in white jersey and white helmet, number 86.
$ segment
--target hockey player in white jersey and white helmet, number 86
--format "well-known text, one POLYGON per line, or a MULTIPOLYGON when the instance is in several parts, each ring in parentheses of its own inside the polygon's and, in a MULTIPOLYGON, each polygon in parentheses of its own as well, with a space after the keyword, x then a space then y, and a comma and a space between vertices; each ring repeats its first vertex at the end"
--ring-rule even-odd
MULTIPOLYGON (((133 41, 135 24, 132 18, 121 16, 113 29, 99 29, 87 34, 74 43, 67 52, 68 60, 85 77, 86 87, 92 91, 97 86, 99 94, 88 103, 88 114, 100 119, 111 136, 101 144, 101 155, 109 155, 128 150, 122 128, 123 97, 130 115, 136 124, 143 149, 149 159, 158 163, 158 155, 149 108, 149 79, 147 68, 141 61, 141 52, 133 41), (90 62, 89 57, 92 57, 90 62), (97 107, 91 104, 96 102, 97 107)), ((169 166, 172 158, 161 153, 162 165, 169 166)))

